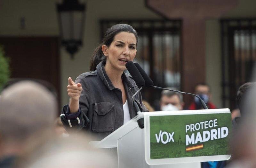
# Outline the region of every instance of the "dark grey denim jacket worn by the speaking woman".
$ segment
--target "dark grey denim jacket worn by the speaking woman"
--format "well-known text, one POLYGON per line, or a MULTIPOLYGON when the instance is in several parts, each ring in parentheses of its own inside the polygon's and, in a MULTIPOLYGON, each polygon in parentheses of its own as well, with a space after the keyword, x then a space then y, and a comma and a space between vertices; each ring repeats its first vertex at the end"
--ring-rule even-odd
MULTIPOLYGON (((137 114, 132 104, 132 95, 139 89, 130 75, 123 73, 122 80, 130 116, 133 118, 137 114)), ((77 113, 70 114, 68 104, 62 109, 61 121, 66 129, 84 129, 101 140, 124 124, 122 92, 113 86, 102 62, 98 64, 97 70, 79 75, 75 83, 81 83, 83 91, 77 113)), ((140 102, 141 111, 148 111, 142 103, 140 92, 134 99, 140 102)))

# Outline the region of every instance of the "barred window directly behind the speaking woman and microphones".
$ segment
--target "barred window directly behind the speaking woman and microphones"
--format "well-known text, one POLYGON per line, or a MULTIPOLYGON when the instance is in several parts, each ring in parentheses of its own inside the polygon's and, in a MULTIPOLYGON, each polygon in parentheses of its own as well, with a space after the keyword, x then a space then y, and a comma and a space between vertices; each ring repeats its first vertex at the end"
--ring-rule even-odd
MULTIPOLYGON (((139 34, 138 62, 160 87, 180 88, 181 71, 181 20, 101 20, 101 39, 108 28, 115 24, 130 24, 139 34)), ((143 88, 143 100, 159 110, 161 90, 143 88)))

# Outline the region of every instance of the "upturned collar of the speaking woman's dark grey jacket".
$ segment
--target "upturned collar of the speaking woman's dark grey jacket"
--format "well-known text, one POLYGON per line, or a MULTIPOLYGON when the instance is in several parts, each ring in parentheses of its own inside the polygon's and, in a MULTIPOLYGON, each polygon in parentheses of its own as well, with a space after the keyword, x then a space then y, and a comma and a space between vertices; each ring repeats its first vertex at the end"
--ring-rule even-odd
MULTIPOLYGON (((113 90, 113 89, 115 89, 115 87, 113 86, 112 82, 108 78, 108 75, 104 69, 104 66, 105 65, 104 65, 103 61, 101 61, 96 67, 97 73, 98 73, 101 81, 107 86, 107 88, 109 90, 113 90)), ((128 74, 123 73, 121 77, 122 77, 123 81, 127 84, 128 87, 134 88, 131 81, 129 80, 128 74)))

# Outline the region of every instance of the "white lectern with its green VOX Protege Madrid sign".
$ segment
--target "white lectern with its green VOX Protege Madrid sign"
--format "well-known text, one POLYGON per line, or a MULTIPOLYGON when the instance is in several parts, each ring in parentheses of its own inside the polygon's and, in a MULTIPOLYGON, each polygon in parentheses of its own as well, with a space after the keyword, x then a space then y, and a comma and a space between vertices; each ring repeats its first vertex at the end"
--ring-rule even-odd
POLYGON ((230 158, 231 132, 228 108, 142 112, 91 144, 116 148, 119 168, 200 168, 200 162, 230 158))

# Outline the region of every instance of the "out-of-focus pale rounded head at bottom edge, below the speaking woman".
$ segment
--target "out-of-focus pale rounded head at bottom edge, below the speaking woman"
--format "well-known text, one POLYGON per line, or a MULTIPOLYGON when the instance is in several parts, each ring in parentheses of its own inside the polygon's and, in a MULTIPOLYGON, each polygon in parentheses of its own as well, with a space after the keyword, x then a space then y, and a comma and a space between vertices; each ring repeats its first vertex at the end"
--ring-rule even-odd
POLYGON ((93 149, 89 135, 48 138, 28 156, 22 157, 17 168, 116 168, 116 160, 104 149, 93 149))

